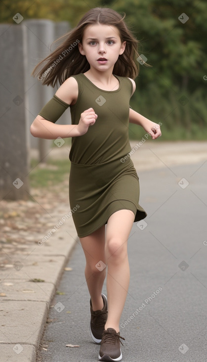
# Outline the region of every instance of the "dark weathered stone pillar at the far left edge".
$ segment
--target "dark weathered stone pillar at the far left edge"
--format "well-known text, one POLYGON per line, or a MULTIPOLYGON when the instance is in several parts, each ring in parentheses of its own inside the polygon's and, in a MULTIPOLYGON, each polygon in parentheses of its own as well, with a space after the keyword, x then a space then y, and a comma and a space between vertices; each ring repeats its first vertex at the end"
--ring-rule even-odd
POLYGON ((0 49, 0 199, 27 199, 29 142, 22 26, 0 24, 0 49))

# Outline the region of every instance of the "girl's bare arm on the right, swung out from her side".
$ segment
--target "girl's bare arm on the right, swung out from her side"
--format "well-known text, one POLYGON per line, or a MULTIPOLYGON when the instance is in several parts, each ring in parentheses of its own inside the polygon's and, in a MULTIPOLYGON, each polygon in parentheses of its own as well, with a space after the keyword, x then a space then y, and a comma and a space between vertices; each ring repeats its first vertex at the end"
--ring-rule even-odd
MULTIPOLYGON (((129 78, 133 85, 132 94, 136 89, 136 83, 133 79, 129 78)), ((135 112, 135 110, 129 108, 129 122, 138 124, 142 126, 144 130, 149 133, 153 140, 160 137, 162 135, 160 130, 160 124, 150 121, 148 118, 144 117, 143 115, 135 112)))

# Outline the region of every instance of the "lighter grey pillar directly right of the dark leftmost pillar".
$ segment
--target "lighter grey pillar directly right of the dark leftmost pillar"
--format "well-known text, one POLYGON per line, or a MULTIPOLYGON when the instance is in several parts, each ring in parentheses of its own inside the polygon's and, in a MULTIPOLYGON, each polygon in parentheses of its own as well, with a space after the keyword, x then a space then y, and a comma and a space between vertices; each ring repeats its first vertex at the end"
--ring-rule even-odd
MULTIPOLYGON (((22 26, 25 31, 25 52, 28 57, 25 69, 25 88, 29 105, 27 117, 31 125, 38 112, 54 94, 52 87, 43 86, 37 78, 31 76, 31 73, 35 66, 50 53, 50 45, 55 38, 55 29, 53 21, 44 19, 26 20, 22 26)), ((31 134, 29 137, 32 147, 39 148, 39 161, 45 162, 52 141, 36 139, 31 134)))

